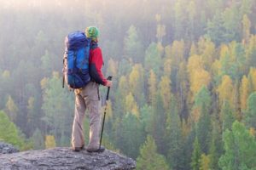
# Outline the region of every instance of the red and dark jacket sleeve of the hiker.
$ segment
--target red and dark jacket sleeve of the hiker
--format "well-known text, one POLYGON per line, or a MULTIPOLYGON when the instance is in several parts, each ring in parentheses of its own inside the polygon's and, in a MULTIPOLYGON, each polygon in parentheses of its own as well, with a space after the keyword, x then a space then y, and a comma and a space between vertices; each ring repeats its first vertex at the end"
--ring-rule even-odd
POLYGON ((103 58, 101 48, 90 49, 89 65, 92 80, 105 86, 108 81, 102 74, 103 58))

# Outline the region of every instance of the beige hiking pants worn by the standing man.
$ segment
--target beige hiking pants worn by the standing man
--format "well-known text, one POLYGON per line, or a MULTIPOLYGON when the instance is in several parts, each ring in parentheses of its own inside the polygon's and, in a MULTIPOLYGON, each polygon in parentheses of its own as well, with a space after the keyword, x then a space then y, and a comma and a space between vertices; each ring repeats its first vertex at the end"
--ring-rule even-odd
POLYGON ((89 111, 90 138, 89 149, 99 147, 99 136, 101 128, 101 102, 99 95, 99 84, 89 82, 86 87, 75 90, 75 111, 73 119, 72 145, 82 147, 84 145, 84 115, 85 110, 89 111))

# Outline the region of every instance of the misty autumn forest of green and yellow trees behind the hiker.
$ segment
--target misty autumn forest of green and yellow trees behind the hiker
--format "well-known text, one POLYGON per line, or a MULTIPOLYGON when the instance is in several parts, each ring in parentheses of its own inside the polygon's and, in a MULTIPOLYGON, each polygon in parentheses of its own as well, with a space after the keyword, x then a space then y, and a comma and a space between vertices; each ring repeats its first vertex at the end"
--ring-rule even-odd
POLYGON ((108 150, 137 170, 256 169, 255 0, 0 2, 0 140, 71 146, 64 38, 97 26, 108 150))

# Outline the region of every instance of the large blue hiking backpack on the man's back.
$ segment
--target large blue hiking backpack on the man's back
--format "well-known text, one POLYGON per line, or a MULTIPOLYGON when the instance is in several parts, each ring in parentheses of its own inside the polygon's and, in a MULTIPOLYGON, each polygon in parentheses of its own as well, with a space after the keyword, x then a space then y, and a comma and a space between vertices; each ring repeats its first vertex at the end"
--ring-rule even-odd
POLYGON ((82 31, 74 31, 66 37, 63 59, 63 84, 69 88, 84 88, 90 82, 89 55, 91 39, 82 31))

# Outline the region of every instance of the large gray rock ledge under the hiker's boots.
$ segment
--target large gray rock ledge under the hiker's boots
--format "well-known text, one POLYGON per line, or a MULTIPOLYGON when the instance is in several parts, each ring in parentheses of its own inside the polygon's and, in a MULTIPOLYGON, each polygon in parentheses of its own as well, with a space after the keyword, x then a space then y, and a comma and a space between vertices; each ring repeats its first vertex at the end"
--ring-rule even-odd
POLYGON ((136 161, 109 150, 89 153, 74 152, 70 148, 29 150, 14 154, 0 154, 1 170, 130 170, 136 161))

